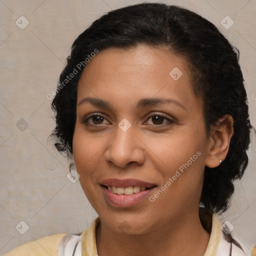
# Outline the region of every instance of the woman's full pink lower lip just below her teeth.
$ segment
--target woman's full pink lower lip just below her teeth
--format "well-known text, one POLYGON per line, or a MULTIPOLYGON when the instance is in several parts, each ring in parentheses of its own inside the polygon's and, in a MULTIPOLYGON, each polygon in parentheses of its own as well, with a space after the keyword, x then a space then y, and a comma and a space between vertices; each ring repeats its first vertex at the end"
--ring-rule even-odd
POLYGON ((155 188, 155 186, 151 187, 150 189, 147 190, 142 190, 137 193, 129 194, 129 195, 122 195, 122 194, 115 194, 109 191, 106 187, 101 185, 104 193, 106 200, 112 204, 113 206, 117 207, 128 207, 135 205, 145 199, 149 193, 152 192, 152 190, 155 188))

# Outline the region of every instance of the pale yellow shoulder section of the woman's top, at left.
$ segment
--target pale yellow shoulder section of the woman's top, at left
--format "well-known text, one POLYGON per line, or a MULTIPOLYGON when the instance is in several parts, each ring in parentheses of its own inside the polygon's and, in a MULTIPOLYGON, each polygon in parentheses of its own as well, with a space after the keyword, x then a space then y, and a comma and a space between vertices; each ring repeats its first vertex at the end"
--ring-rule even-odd
POLYGON ((64 235, 65 233, 53 234, 24 243, 5 254, 5 256, 57 256, 58 245, 64 235))

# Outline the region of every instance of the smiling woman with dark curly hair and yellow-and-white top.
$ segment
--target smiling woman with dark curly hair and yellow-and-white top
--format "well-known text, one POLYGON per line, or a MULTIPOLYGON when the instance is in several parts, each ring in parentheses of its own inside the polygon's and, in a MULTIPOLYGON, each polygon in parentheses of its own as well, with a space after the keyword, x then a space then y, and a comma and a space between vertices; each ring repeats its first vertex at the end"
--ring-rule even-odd
POLYGON ((162 3, 110 11, 74 41, 52 109, 99 216, 7 256, 249 255, 215 215, 251 124, 238 51, 212 23, 162 3))

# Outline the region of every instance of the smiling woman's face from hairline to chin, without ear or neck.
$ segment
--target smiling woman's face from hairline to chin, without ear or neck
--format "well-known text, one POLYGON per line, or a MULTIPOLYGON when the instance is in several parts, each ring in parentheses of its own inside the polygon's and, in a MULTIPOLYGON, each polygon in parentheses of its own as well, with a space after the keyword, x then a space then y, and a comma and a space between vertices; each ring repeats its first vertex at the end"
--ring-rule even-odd
POLYGON ((74 162, 102 223, 146 233, 198 214, 208 139, 184 58, 143 45, 99 51, 76 114, 74 162))

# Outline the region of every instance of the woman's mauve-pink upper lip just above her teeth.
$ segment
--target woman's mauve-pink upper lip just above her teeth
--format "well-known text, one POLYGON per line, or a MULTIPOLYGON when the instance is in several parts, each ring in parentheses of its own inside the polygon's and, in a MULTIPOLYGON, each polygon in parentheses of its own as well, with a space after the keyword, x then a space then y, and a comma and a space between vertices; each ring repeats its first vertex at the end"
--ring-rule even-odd
POLYGON ((107 178, 101 182, 104 186, 118 186, 118 187, 128 187, 128 186, 145 186, 145 187, 152 187, 155 184, 134 179, 134 178, 125 178, 125 179, 118 179, 118 178, 107 178))

